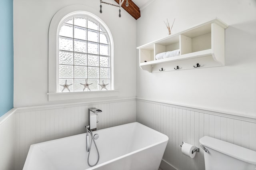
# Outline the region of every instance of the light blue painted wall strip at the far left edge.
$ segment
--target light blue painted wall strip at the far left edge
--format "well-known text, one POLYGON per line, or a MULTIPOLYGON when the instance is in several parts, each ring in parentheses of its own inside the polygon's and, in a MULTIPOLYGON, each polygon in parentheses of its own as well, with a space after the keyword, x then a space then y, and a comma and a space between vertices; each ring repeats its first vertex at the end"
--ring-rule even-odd
POLYGON ((0 117, 13 108, 13 0, 0 0, 0 117))

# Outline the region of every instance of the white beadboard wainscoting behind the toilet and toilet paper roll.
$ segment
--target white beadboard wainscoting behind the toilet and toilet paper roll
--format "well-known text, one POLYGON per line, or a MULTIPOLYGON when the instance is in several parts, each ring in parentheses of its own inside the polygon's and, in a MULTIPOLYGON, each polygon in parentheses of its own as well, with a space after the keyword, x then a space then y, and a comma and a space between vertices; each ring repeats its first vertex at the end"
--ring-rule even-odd
POLYGON ((204 153, 194 159, 181 153, 182 141, 199 147, 211 136, 256 151, 256 119, 137 99, 136 121, 169 137, 160 168, 204 170, 204 153))

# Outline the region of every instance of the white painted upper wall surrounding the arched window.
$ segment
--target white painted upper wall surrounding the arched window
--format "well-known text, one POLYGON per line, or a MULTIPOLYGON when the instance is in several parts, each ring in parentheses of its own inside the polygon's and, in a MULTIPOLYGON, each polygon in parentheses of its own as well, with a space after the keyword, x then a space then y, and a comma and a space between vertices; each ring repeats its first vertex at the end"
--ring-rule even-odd
MULTIPOLYGON (((118 98, 136 96, 136 20, 125 10, 98 0, 14 0, 14 107, 86 100, 48 102, 48 28, 54 14, 72 4, 94 9, 114 40, 114 86, 118 98)), ((115 3, 115 2, 113 2, 115 3)), ((85 9, 86 10, 86 9, 85 9)), ((88 101, 88 100, 87 100, 88 101)))

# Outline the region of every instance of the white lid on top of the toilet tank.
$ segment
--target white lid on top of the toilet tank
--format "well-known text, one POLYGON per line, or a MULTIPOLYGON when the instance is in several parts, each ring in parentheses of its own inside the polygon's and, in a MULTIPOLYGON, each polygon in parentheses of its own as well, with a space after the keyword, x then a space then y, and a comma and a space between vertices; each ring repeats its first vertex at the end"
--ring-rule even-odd
POLYGON ((204 136, 199 139, 199 142, 204 146, 242 160, 244 162, 256 165, 256 152, 241 146, 225 142, 209 136, 204 136))

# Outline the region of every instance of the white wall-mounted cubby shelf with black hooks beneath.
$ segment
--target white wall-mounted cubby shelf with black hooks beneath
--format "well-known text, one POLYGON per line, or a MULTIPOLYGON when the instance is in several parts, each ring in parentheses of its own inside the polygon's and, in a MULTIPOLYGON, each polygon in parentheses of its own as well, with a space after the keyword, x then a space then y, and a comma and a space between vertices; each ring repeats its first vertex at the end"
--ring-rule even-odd
POLYGON ((140 47, 140 67, 150 73, 225 65, 225 29, 218 18, 140 47), (158 53, 180 49, 180 55, 156 59, 158 53), (146 62, 145 62, 146 61, 146 62), (200 67, 196 67, 197 63, 200 67), (179 67, 179 69, 174 69, 179 67), (195 67, 196 68, 195 68, 195 67))

